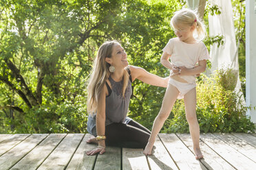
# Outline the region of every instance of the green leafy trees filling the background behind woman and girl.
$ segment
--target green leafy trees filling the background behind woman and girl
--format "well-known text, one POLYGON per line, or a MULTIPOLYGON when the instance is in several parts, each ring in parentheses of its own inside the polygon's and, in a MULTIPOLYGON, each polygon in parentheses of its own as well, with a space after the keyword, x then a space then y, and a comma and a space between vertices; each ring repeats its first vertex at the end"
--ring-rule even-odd
MULTIPOLYGON (((0 133, 86 132, 85 85, 105 40, 120 40, 129 64, 167 77, 160 56, 175 37, 171 16, 183 5, 184 0, 0 1, 0 133)), ((206 12, 218 14, 208 5, 206 12)), ((206 38, 206 47, 220 45, 222 38, 206 38)), ((165 89, 138 80, 132 87, 129 116, 151 128, 165 89)), ((198 112, 206 112, 200 107, 198 112)), ((177 101, 170 117, 177 122, 167 122, 169 132, 187 132, 186 121, 178 121, 185 120, 181 113, 177 101)))

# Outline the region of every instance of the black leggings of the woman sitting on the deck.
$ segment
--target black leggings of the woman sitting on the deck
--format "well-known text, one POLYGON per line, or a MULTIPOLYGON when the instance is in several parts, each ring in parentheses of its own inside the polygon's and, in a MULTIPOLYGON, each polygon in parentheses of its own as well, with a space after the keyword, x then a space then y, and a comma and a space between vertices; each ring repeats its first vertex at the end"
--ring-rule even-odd
POLYGON ((111 123, 105 128, 106 145, 129 148, 145 148, 151 132, 140 123, 111 123))

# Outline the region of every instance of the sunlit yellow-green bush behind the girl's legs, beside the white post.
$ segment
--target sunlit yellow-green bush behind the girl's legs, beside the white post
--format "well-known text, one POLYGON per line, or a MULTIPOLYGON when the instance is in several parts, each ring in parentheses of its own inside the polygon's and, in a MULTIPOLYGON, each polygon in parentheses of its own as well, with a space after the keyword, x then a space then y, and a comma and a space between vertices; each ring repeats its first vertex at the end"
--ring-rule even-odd
MULTIPOLYGON (((245 115, 246 110, 255 108, 245 107, 235 86, 230 84, 236 76, 231 69, 217 71, 211 77, 202 75, 196 108, 201 132, 255 132, 255 125, 245 115)), ((189 132, 183 100, 176 101, 171 114, 162 132, 189 132)))

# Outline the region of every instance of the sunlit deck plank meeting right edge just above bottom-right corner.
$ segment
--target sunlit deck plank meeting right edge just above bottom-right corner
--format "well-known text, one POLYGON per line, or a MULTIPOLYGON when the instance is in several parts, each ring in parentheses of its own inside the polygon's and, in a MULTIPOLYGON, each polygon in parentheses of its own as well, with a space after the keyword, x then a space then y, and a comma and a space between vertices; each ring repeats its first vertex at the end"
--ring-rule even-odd
POLYGON ((248 143, 245 143, 239 138, 233 136, 232 134, 214 134, 214 135, 256 163, 255 147, 248 145, 248 143))

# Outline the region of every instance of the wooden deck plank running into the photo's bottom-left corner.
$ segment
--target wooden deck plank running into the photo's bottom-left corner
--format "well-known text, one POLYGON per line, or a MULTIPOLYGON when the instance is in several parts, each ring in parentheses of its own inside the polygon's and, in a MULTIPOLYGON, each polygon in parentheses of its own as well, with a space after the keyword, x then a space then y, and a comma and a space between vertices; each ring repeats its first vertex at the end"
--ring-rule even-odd
POLYGON ((48 134, 32 134, 19 145, 10 149, 0 157, 0 170, 10 169, 15 165, 23 156, 28 154, 36 145, 38 145, 48 134))

